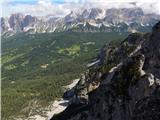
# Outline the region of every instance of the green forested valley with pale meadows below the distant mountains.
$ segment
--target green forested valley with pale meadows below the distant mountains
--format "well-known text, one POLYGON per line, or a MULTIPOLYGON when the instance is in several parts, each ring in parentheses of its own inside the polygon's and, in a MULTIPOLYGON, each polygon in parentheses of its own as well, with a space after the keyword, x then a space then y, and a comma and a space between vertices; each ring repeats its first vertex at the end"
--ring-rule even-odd
MULTIPOLYGON (((2 119, 41 112, 119 33, 18 34, 2 38, 2 119), (35 109, 35 110, 34 110, 35 109)), ((12 119, 12 118, 11 118, 12 119)))

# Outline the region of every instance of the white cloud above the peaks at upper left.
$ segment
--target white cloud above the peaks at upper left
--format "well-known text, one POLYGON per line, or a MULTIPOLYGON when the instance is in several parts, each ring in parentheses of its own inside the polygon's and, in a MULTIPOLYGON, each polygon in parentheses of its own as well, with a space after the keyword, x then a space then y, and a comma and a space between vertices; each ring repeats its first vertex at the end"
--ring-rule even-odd
POLYGON ((65 9, 63 4, 52 3, 49 0, 39 0, 37 4, 8 4, 3 3, 2 15, 8 16, 12 13, 31 14, 35 16, 44 16, 52 14, 61 16, 69 13, 69 9, 65 9))

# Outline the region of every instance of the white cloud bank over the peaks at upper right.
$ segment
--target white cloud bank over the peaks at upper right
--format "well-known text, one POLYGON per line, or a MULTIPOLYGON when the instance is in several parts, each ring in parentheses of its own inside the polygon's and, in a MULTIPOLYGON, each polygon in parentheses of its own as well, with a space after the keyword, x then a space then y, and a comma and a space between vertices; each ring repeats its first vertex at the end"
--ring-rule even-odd
POLYGON ((160 14, 160 1, 159 0, 86 0, 91 7, 99 6, 101 8, 130 8, 141 7, 147 13, 160 14), (131 4, 131 3, 136 3, 131 4))

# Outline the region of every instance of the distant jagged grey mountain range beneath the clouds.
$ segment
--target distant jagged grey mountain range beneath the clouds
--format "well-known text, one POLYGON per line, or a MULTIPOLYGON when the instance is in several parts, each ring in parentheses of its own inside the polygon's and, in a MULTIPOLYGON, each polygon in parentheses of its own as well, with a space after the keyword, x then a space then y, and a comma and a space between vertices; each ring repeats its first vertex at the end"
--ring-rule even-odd
POLYGON ((141 8, 90 8, 71 11, 65 17, 52 15, 38 18, 31 15, 12 14, 1 17, 1 33, 10 36, 19 32, 135 32, 149 31, 160 20, 158 14, 144 13, 141 8))

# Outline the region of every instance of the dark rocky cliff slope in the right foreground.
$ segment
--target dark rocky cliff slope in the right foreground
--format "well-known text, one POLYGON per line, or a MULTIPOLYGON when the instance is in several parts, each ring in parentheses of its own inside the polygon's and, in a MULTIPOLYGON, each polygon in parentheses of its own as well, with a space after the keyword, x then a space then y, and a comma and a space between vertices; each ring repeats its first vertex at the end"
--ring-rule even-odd
POLYGON ((105 45, 70 97, 52 120, 159 120, 160 22, 152 33, 105 45))

